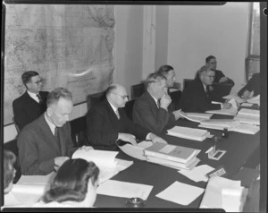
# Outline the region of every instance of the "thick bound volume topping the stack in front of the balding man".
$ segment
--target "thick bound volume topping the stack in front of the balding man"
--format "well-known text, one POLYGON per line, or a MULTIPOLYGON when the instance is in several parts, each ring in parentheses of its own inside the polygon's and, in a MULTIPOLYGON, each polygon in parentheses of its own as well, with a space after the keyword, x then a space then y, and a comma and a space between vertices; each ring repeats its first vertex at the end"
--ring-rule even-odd
POLYGON ((154 158, 163 158, 182 164, 197 156, 197 149, 181 147, 161 142, 155 142, 152 146, 144 149, 145 156, 154 158))

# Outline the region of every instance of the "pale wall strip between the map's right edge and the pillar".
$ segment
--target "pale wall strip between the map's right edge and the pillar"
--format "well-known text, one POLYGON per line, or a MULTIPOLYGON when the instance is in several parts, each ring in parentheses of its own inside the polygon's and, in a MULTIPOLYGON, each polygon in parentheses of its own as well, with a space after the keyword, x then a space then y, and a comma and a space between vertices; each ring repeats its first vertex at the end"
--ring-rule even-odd
POLYGON ((115 5, 114 75, 113 82, 126 87, 142 79, 143 6, 115 5))

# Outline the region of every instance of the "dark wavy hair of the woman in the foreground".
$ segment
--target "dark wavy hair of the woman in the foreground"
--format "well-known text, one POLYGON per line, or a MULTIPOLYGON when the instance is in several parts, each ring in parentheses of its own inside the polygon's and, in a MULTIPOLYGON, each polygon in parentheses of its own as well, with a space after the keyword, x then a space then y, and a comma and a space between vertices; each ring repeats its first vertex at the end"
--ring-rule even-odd
POLYGON ((59 168, 44 197, 44 202, 83 201, 88 192, 88 180, 94 185, 99 169, 93 162, 85 159, 68 159, 59 168))

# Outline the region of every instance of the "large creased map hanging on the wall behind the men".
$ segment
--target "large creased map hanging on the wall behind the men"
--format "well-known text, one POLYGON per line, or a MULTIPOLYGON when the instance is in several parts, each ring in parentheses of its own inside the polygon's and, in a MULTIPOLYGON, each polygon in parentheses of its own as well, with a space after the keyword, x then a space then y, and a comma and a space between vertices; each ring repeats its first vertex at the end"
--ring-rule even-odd
POLYGON ((5 4, 4 124, 37 71, 43 90, 69 89, 74 104, 113 82, 113 5, 5 4))

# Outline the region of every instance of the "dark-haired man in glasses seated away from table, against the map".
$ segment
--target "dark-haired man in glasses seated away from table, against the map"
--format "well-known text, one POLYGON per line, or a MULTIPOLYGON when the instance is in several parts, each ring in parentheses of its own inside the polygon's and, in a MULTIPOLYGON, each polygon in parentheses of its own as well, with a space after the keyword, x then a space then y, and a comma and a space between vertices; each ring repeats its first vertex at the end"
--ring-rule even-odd
POLYGON ((47 91, 41 91, 43 84, 38 72, 24 72, 21 79, 26 91, 20 98, 13 100, 14 122, 20 131, 46 111, 48 94, 47 91))

